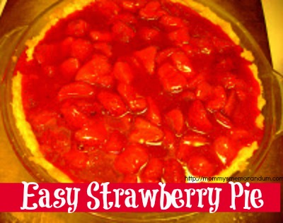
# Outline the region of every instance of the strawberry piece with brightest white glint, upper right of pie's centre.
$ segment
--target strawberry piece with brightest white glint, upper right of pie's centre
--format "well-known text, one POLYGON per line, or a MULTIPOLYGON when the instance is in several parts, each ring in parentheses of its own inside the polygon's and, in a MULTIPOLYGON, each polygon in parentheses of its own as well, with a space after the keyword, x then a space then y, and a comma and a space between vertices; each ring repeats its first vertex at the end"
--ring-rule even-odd
POLYGON ((185 53, 175 52, 171 55, 171 59, 173 61, 173 64, 175 64, 176 68, 179 71, 182 71, 187 78, 191 78, 195 75, 192 69, 192 64, 190 63, 190 60, 187 58, 185 53))

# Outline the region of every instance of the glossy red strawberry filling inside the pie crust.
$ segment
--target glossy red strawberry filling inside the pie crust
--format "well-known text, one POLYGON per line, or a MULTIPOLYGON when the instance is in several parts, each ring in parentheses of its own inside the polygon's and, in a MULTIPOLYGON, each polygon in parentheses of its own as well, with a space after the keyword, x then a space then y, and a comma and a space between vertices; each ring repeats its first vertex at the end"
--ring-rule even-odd
POLYGON ((262 140, 243 51, 183 4, 99 0, 53 25, 15 73, 40 153, 71 181, 185 182, 262 140))

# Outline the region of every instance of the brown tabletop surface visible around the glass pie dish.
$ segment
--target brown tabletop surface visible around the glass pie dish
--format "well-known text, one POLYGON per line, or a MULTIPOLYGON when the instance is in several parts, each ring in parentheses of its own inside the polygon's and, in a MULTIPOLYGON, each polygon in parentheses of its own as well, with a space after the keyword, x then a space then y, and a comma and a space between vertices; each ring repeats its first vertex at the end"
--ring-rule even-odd
MULTIPOLYGON (((265 30, 265 20, 262 13, 260 0, 214 0, 217 4, 226 8, 232 16, 236 17, 255 37, 267 59, 270 61, 265 30)), ((54 1, 44 0, 8 0, 4 13, 0 18, 0 38, 5 33, 17 26, 30 23, 43 8, 47 8, 54 1)), ((1 61, 1 59, 0 59, 1 61)), ((32 181, 32 177, 18 162, 16 155, 11 152, 11 145, 8 143, 3 126, 0 126, 0 181, 21 182, 32 181), (13 168, 11 168, 13 164, 13 168)), ((283 176, 283 140, 279 138, 270 150, 265 162, 263 162, 256 176, 283 176)), ((282 187, 281 187, 282 188, 282 187)), ((283 190, 283 188, 282 188, 283 190)), ((282 203, 283 207, 283 203, 282 203)), ((138 216, 138 215, 137 215, 138 216)), ((0 214, 0 221, 4 222, 102 222, 101 219, 94 219, 93 216, 83 213, 25 213, 25 214, 0 214)), ((183 222, 283 222, 281 213, 216 213, 197 214, 183 222)))

